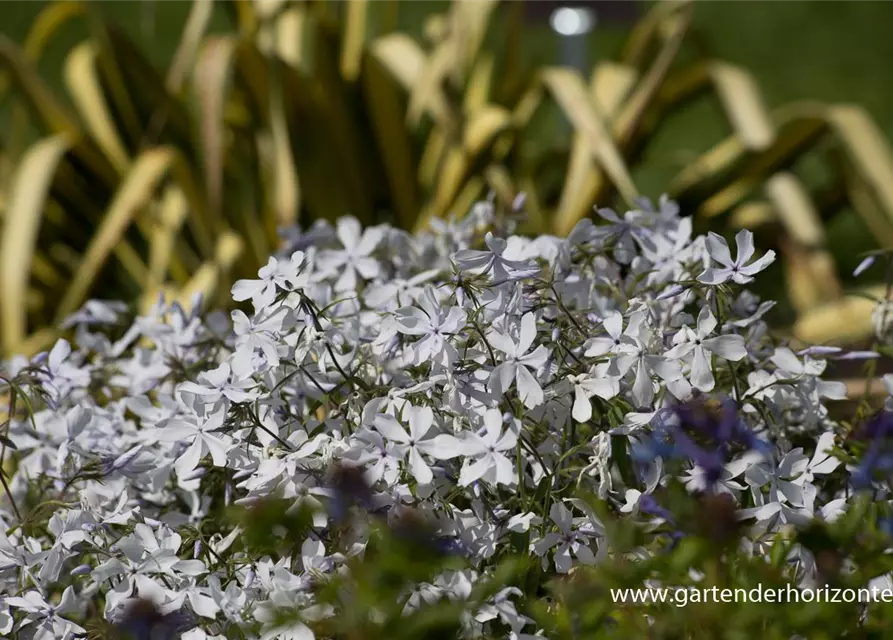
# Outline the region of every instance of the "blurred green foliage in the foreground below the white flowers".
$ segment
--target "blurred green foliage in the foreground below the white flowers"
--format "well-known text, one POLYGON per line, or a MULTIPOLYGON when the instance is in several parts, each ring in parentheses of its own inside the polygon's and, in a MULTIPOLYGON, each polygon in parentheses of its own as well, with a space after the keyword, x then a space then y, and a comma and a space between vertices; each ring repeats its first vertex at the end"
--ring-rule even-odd
MULTIPOLYGON (((841 595, 844 589, 859 594, 861 588, 859 597, 864 597, 869 580, 893 570, 893 556, 885 553, 889 533, 876 524, 889 517, 889 505, 869 496, 833 524, 813 521, 800 529, 790 527, 786 539, 776 541, 769 562, 738 546, 742 525, 721 495, 691 495, 678 484, 666 490, 662 504, 674 519, 687 523, 675 542, 670 535, 655 536, 659 530, 653 525, 612 513, 607 503, 587 500, 605 523, 615 550, 610 558, 542 583, 537 558, 526 549, 503 548, 497 551, 500 561, 492 578, 475 585, 466 600, 420 601, 411 610, 406 607, 413 586, 446 569, 461 569, 461 557, 438 551, 421 521, 389 526, 353 513, 352 526, 372 527, 366 552, 348 564, 349 571, 315 587, 320 606, 335 607, 343 615, 304 622, 325 638, 455 638, 463 617, 473 615, 497 591, 514 586, 523 594, 518 611, 533 618, 544 637, 556 639, 787 640, 799 635, 830 640, 849 637, 857 628, 859 637, 881 638, 893 623, 893 612, 883 602, 844 602, 841 595), (812 598, 797 595, 786 577, 786 566, 796 560, 790 552, 798 546, 814 554, 825 580, 816 585, 812 598), (845 563, 854 571, 841 572, 845 563), (664 587, 665 601, 627 597, 624 602, 619 597, 646 582, 664 587)), ((264 536, 270 524, 263 518, 247 520, 246 535, 264 536)), ((280 524, 287 526, 284 520, 280 524)))

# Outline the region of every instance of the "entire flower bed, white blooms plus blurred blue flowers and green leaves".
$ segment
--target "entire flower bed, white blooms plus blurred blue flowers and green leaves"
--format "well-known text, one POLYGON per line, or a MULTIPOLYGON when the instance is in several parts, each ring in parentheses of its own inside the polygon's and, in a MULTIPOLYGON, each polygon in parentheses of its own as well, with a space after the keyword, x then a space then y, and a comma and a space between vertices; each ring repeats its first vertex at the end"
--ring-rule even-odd
POLYGON ((240 310, 91 301, 6 363, 0 633, 880 633, 883 605, 608 597, 889 585, 893 417, 823 378, 878 354, 773 337, 772 252, 666 200, 566 239, 511 214, 290 230, 240 310))

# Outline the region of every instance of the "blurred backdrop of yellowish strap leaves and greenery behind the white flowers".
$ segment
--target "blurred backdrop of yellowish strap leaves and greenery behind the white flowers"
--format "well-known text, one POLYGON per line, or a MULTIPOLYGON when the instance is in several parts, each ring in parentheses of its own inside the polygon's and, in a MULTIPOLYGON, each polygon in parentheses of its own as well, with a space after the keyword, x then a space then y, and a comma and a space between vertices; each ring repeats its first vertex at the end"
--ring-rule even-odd
POLYGON ((525 230, 559 234, 668 191, 700 230, 780 251, 760 285, 780 327, 867 337, 871 301, 843 292, 860 252, 893 245, 893 3, 641 3, 597 25, 582 73, 497 4, 4 7, 4 350, 42 348, 86 297, 222 302, 282 224, 412 229, 488 191, 527 192, 525 230))

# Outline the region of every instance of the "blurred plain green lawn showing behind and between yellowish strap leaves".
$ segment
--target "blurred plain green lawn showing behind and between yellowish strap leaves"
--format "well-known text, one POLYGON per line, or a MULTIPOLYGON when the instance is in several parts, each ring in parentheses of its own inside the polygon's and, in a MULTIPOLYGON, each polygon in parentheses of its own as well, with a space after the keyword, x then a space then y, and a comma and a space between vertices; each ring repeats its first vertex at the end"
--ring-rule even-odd
MULTIPOLYGON (((191 4, 189 0, 96 3, 123 24, 159 65, 172 55, 191 4)), ((46 0, 6 3, 0 30, 21 40, 33 17, 47 4, 46 0)), ((447 4, 448 0, 404 0, 401 27, 417 33, 426 14, 447 4)), ((213 30, 225 31, 227 20, 218 13, 213 30)), ((686 53, 706 54, 748 68, 770 106, 803 99, 860 104, 893 140, 891 27, 893 0, 697 0, 686 53)), ((56 86, 61 86, 58 77, 65 50, 85 32, 72 28, 63 35, 42 64, 42 71, 56 86)), ((591 59, 616 56, 624 36, 623 27, 599 26, 589 42, 591 59)), ((531 27, 526 53, 531 62, 557 62, 555 36, 546 26, 531 27)), ((728 132, 718 105, 710 101, 674 116, 650 146, 645 168, 637 172, 641 190, 656 197, 681 164, 728 132)), ((809 162, 798 169, 807 182, 821 177, 809 162)), ((872 246, 870 234, 848 211, 828 226, 841 272, 849 274, 858 264, 858 252, 872 246)))

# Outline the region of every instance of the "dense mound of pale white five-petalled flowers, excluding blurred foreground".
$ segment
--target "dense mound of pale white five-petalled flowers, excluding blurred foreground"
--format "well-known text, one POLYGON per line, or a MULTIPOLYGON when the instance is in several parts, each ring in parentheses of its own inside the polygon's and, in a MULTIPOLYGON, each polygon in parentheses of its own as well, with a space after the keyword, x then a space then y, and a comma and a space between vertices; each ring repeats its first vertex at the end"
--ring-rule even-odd
MULTIPOLYGON (((733 259, 666 200, 599 213, 607 224, 584 220, 566 239, 511 235, 488 203, 415 236, 320 223, 235 283, 253 313, 230 318, 162 301, 129 325, 126 307, 90 302, 68 321, 76 348, 7 367, 36 371, 44 400, 3 443, 15 464, 0 633, 82 637, 88 611, 119 621, 139 601, 188 640, 312 638, 308 621, 337 615, 313 585, 368 541, 362 526, 333 527, 361 508, 422 517, 465 560, 407 593, 408 610, 467 598, 512 536, 548 572, 597 563, 611 548, 578 492, 653 521, 645 497, 669 456, 636 458, 630 477, 612 451, 714 394, 773 444, 728 449, 719 472, 690 456, 682 473, 691 491, 734 497, 752 553, 788 523, 840 514, 845 496, 815 484, 839 464, 825 402, 845 389, 820 378, 839 354, 770 339, 771 303, 740 285, 772 253, 754 260, 742 231, 733 259), (793 448, 797 433, 814 450, 793 448), (345 495, 335 468, 363 489, 345 495), (220 502, 268 499, 312 510, 291 555, 255 557, 219 517, 220 502), (293 611, 303 621, 283 623, 293 611)), ((534 637, 523 597, 507 588, 472 611, 468 637, 534 637)))

